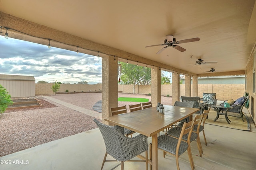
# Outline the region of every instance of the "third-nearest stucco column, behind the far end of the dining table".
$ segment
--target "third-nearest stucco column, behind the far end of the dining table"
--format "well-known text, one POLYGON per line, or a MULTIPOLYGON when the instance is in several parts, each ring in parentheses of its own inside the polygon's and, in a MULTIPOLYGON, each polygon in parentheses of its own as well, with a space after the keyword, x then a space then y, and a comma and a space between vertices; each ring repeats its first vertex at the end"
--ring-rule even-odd
POLYGON ((172 73, 172 105, 180 101, 180 72, 172 73))

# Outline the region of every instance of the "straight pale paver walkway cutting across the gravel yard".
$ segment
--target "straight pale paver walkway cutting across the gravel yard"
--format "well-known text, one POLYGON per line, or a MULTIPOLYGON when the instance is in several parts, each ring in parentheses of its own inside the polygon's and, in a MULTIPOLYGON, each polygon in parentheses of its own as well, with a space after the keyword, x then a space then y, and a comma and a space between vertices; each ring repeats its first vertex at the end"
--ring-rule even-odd
POLYGON ((100 120, 102 119, 102 114, 101 113, 97 113, 95 111, 84 109, 82 107, 79 107, 79 106, 76 106, 76 105, 73 105, 73 104, 70 104, 70 103, 67 103, 67 102, 63 102, 63 101, 55 99, 55 98, 51 98, 50 96, 42 96, 42 97, 44 97, 48 100, 51 100, 53 102, 56 102, 58 104, 61 104, 63 106, 69 107, 70 109, 73 109, 73 110, 79 111, 81 113, 84 113, 86 115, 95 117, 95 118, 100 119, 100 120))

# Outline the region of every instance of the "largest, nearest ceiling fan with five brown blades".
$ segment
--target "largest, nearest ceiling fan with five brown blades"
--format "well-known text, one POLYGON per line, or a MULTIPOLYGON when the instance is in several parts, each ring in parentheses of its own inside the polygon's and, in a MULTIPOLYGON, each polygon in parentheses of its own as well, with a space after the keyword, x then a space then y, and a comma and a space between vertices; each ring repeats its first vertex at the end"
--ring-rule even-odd
POLYGON ((160 51, 158 51, 156 54, 160 54, 167 47, 173 47, 174 49, 177 49, 180 52, 184 52, 184 51, 186 51, 186 49, 180 47, 178 44, 190 43, 190 42, 199 41, 199 40, 200 40, 199 38, 191 38, 191 39, 183 39, 183 40, 180 40, 180 41, 176 41, 176 38, 174 38, 172 35, 166 35, 166 39, 164 40, 164 44, 149 45, 149 46, 146 46, 146 48, 147 47, 155 47, 155 46, 166 45, 165 47, 160 49, 160 51))

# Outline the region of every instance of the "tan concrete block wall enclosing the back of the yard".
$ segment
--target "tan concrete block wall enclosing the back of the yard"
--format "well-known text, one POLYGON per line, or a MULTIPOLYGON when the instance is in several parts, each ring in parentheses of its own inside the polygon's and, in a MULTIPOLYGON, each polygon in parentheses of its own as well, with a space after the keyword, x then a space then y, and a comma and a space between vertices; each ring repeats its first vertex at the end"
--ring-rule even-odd
MULTIPOLYGON (((52 83, 49 84, 36 84, 36 96, 38 95, 53 95, 52 83)), ((192 89, 191 85, 191 89, 192 89)), ((172 84, 161 85, 161 95, 172 96, 172 84)), ((102 90, 102 84, 60 84, 60 90, 58 92, 64 93, 66 90, 69 92, 97 92, 102 90)), ((118 91, 123 93, 133 94, 133 85, 118 84, 118 91)), ((198 84, 198 96, 203 97, 203 93, 216 93, 218 100, 228 100, 237 98, 244 95, 244 84, 198 84)), ((136 85, 135 94, 149 94, 151 93, 151 85, 136 85)), ((185 96, 185 85, 180 84, 180 96, 185 96)), ((192 90, 191 90, 191 96, 192 90)))

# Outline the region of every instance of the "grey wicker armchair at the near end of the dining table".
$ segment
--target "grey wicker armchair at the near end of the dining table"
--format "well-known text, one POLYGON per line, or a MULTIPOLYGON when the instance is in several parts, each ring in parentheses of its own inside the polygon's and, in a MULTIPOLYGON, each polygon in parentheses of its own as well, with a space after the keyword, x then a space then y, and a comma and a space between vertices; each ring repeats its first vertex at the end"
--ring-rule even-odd
POLYGON ((146 170, 148 170, 147 136, 140 134, 136 137, 128 138, 124 136, 124 128, 120 126, 105 125, 95 118, 93 120, 99 127, 106 146, 106 153, 102 162, 101 170, 105 162, 113 161, 121 162, 121 170, 124 170, 125 161, 146 162, 146 170), (146 152, 145 160, 130 160, 143 152, 146 152), (108 154, 116 160, 106 160, 108 154))

